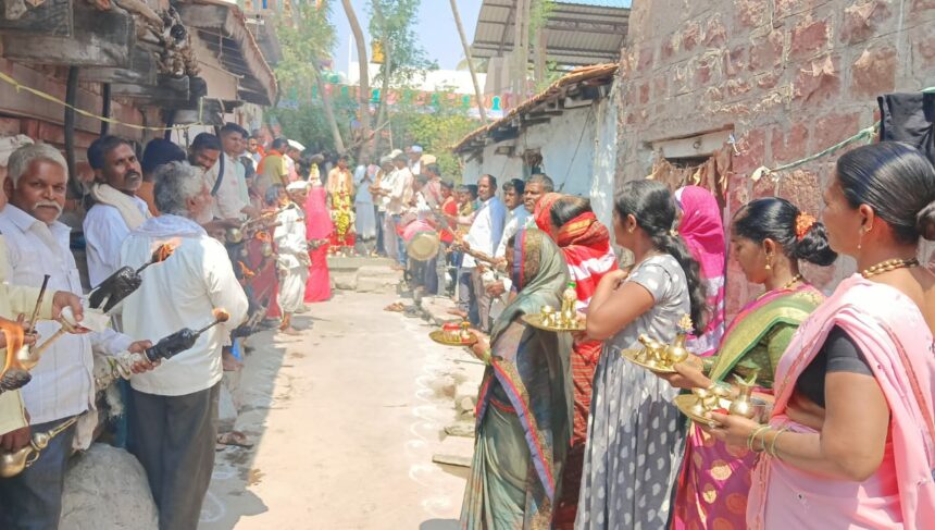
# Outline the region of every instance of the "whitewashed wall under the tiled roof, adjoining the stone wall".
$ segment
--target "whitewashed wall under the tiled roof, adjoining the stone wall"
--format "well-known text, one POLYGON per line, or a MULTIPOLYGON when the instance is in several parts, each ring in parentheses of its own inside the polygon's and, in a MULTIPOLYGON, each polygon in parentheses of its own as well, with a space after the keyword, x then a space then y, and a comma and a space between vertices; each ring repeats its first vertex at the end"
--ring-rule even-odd
POLYGON ((501 144, 488 145, 483 156, 465 162, 462 180, 475 183, 489 173, 502 182, 522 178, 521 156, 528 149, 540 149, 543 170, 562 193, 590 197, 598 217, 610 222, 613 175, 616 164, 616 109, 612 98, 576 109, 565 110, 548 123, 525 128, 514 144, 511 157, 497 155, 501 144))

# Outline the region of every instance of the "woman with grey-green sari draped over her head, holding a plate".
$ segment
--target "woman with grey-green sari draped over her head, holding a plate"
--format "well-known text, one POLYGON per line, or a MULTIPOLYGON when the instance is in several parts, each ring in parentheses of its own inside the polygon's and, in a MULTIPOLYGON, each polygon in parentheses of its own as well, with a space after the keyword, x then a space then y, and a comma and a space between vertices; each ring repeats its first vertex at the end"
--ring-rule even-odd
POLYGON ((571 440, 571 336, 521 319, 545 305, 559 307, 568 266, 538 230, 510 239, 507 262, 516 296, 494 323, 489 342, 478 333, 473 347, 487 369, 461 508, 464 529, 549 528, 571 440))

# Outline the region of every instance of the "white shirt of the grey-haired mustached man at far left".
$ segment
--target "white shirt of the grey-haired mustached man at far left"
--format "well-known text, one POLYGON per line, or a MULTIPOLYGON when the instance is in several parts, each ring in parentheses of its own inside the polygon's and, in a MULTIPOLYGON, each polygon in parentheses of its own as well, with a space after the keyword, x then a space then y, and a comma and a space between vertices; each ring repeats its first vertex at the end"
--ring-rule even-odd
MULTIPOLYGON (((68 248, 71 229, 55 221, 51 225, 8 205, 0 213, 0 232, 7 239, 11 283, 40 286, 49 274, 48 297, 57 291, 82 295, 75 258, 68 248)), ((36 324, 39 335, 49 337, 61 326, 45 321, 36 324)), ((85 335, 65 334, 42 354, 29 373, 33 380, 22 389, 32 424, 79 415, 95 408, 92 353, 116 355, 133 341, 113 330, 85 335)))

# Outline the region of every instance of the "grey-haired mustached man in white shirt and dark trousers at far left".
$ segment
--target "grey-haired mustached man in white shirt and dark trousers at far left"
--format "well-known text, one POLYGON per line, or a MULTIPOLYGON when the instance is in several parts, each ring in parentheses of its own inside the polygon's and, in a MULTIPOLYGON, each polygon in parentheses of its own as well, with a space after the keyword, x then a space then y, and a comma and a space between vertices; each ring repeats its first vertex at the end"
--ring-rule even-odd
MULTIPOLYGON (((49 288, 82 293, 78 269, 68 248, 71 229, 59 221, 65 205, 66 163, 58 149, 37 144, 17 149, 10 157, 4 190, 10 204, 0 213, 0 232, 7 241, 12 283, 40 285, 49 274, 49 288)), ((60 328, 40 322, 39 335, 49 337, 60 328)), ((52 343, 33 368, 23 400, 34 432, 46 432, 68 419, 92 411, 52 439, 30 467, 0 479, 0 528, 58 528, 62 508, 65 465, 76 433, 97 423, 92 352, 116 355, 142 352, 149 344, 105 330, 84 335, 66 334, 52 343), (84 423, 84 424, 82 424, 84 423)), ((89 437, 76 441, 86 448, 89 437)))

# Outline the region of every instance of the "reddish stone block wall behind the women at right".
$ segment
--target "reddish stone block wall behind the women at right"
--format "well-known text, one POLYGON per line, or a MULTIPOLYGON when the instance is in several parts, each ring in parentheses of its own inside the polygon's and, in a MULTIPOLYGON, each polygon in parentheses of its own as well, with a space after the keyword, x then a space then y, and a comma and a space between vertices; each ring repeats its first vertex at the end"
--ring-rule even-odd
MULTIPOLYGON (((622 52, 618 186, 649 173, 649 143, 733 127, 725 219, 763 195, 816 212, 834 158, 752 183, 875 121, 877 95, 935 85, 935 0, 635 0, 622 52)), ((832 287, 852 272, 806 270, 832 287)), ((728 267, 728 307, 756 287, 728 267)))

